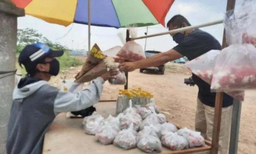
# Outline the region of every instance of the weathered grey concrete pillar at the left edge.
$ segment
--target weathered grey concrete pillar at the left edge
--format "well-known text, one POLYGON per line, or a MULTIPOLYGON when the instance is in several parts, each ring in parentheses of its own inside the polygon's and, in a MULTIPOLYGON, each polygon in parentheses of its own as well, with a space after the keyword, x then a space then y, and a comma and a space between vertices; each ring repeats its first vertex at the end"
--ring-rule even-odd
MULTIPOLYGON (((0 71, 15 70, 17 50, 17 17, 24 16, 24 9, 0 0, 0 71)), ((0 78, 8 74, 0 74, 0 78)), ((5 143, 14 74, 0 79, 0 154, 6 154, 5 143)))

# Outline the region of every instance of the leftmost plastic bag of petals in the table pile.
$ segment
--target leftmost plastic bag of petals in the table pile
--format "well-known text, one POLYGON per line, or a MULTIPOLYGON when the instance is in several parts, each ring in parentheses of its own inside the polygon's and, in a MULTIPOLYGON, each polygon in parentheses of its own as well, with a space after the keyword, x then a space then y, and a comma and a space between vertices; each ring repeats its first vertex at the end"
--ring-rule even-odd
POLYGON ((103 124, 103 117, 99 117, 98 119, 95 119, 95 121, 89 121, 84 125, 84 133, 89 135, 95 135, 101 130, 103 124))

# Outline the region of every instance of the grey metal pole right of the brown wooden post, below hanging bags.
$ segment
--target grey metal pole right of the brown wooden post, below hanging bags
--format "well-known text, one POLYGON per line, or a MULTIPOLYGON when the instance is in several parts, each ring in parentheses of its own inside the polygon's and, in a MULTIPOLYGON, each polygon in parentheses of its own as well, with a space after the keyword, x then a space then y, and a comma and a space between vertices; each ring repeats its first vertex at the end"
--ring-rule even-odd
POLYGON ((229 154, 237 154, 242 102, 234 99, 230 131, 229 154))

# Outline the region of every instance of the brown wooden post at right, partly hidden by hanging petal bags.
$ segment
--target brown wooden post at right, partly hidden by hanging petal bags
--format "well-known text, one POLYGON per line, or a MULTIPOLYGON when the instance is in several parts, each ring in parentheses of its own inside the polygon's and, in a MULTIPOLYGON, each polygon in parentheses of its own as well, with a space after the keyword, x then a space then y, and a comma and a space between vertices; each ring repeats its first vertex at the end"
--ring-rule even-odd
MULTIPOLYGON (((235 0, 228 0, 227 2, 227 11, 235 8, 235 0)), ((222 39, 222 49, 227 47, 225 29, 223 32, 222 39)), ((219 148, 219 138, 220 138, 220 124, 221 124, 221 116, 222 116, 222 104, 223 104, 223 92, 216 93, 215 100, 215 112, 214 112, 214 121, 213 121, 213 137, 212 137, 212 147, 211 154, 218 154, 219 148)))

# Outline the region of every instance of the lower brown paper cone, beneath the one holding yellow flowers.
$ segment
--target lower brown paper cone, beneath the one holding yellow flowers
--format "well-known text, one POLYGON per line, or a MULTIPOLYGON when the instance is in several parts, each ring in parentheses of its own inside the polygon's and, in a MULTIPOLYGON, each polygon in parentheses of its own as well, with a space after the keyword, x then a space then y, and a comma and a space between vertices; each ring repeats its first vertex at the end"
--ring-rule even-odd
MULTIPOLYGON (((85 74, 82 74, 82 76, 80 78, 76 78, 76 82, 77 83, 89 82, 93 79, 96 79, 97 77, 100 77, 102 74, 104 74, 106 72, 107 72, 107 66, 106 66, 104 60, 102 60, 98 65, 93 67, 93 69, 89 70, 85 74)), ((81 72, 79 72, 79 73, 81 73, 81 72)))

